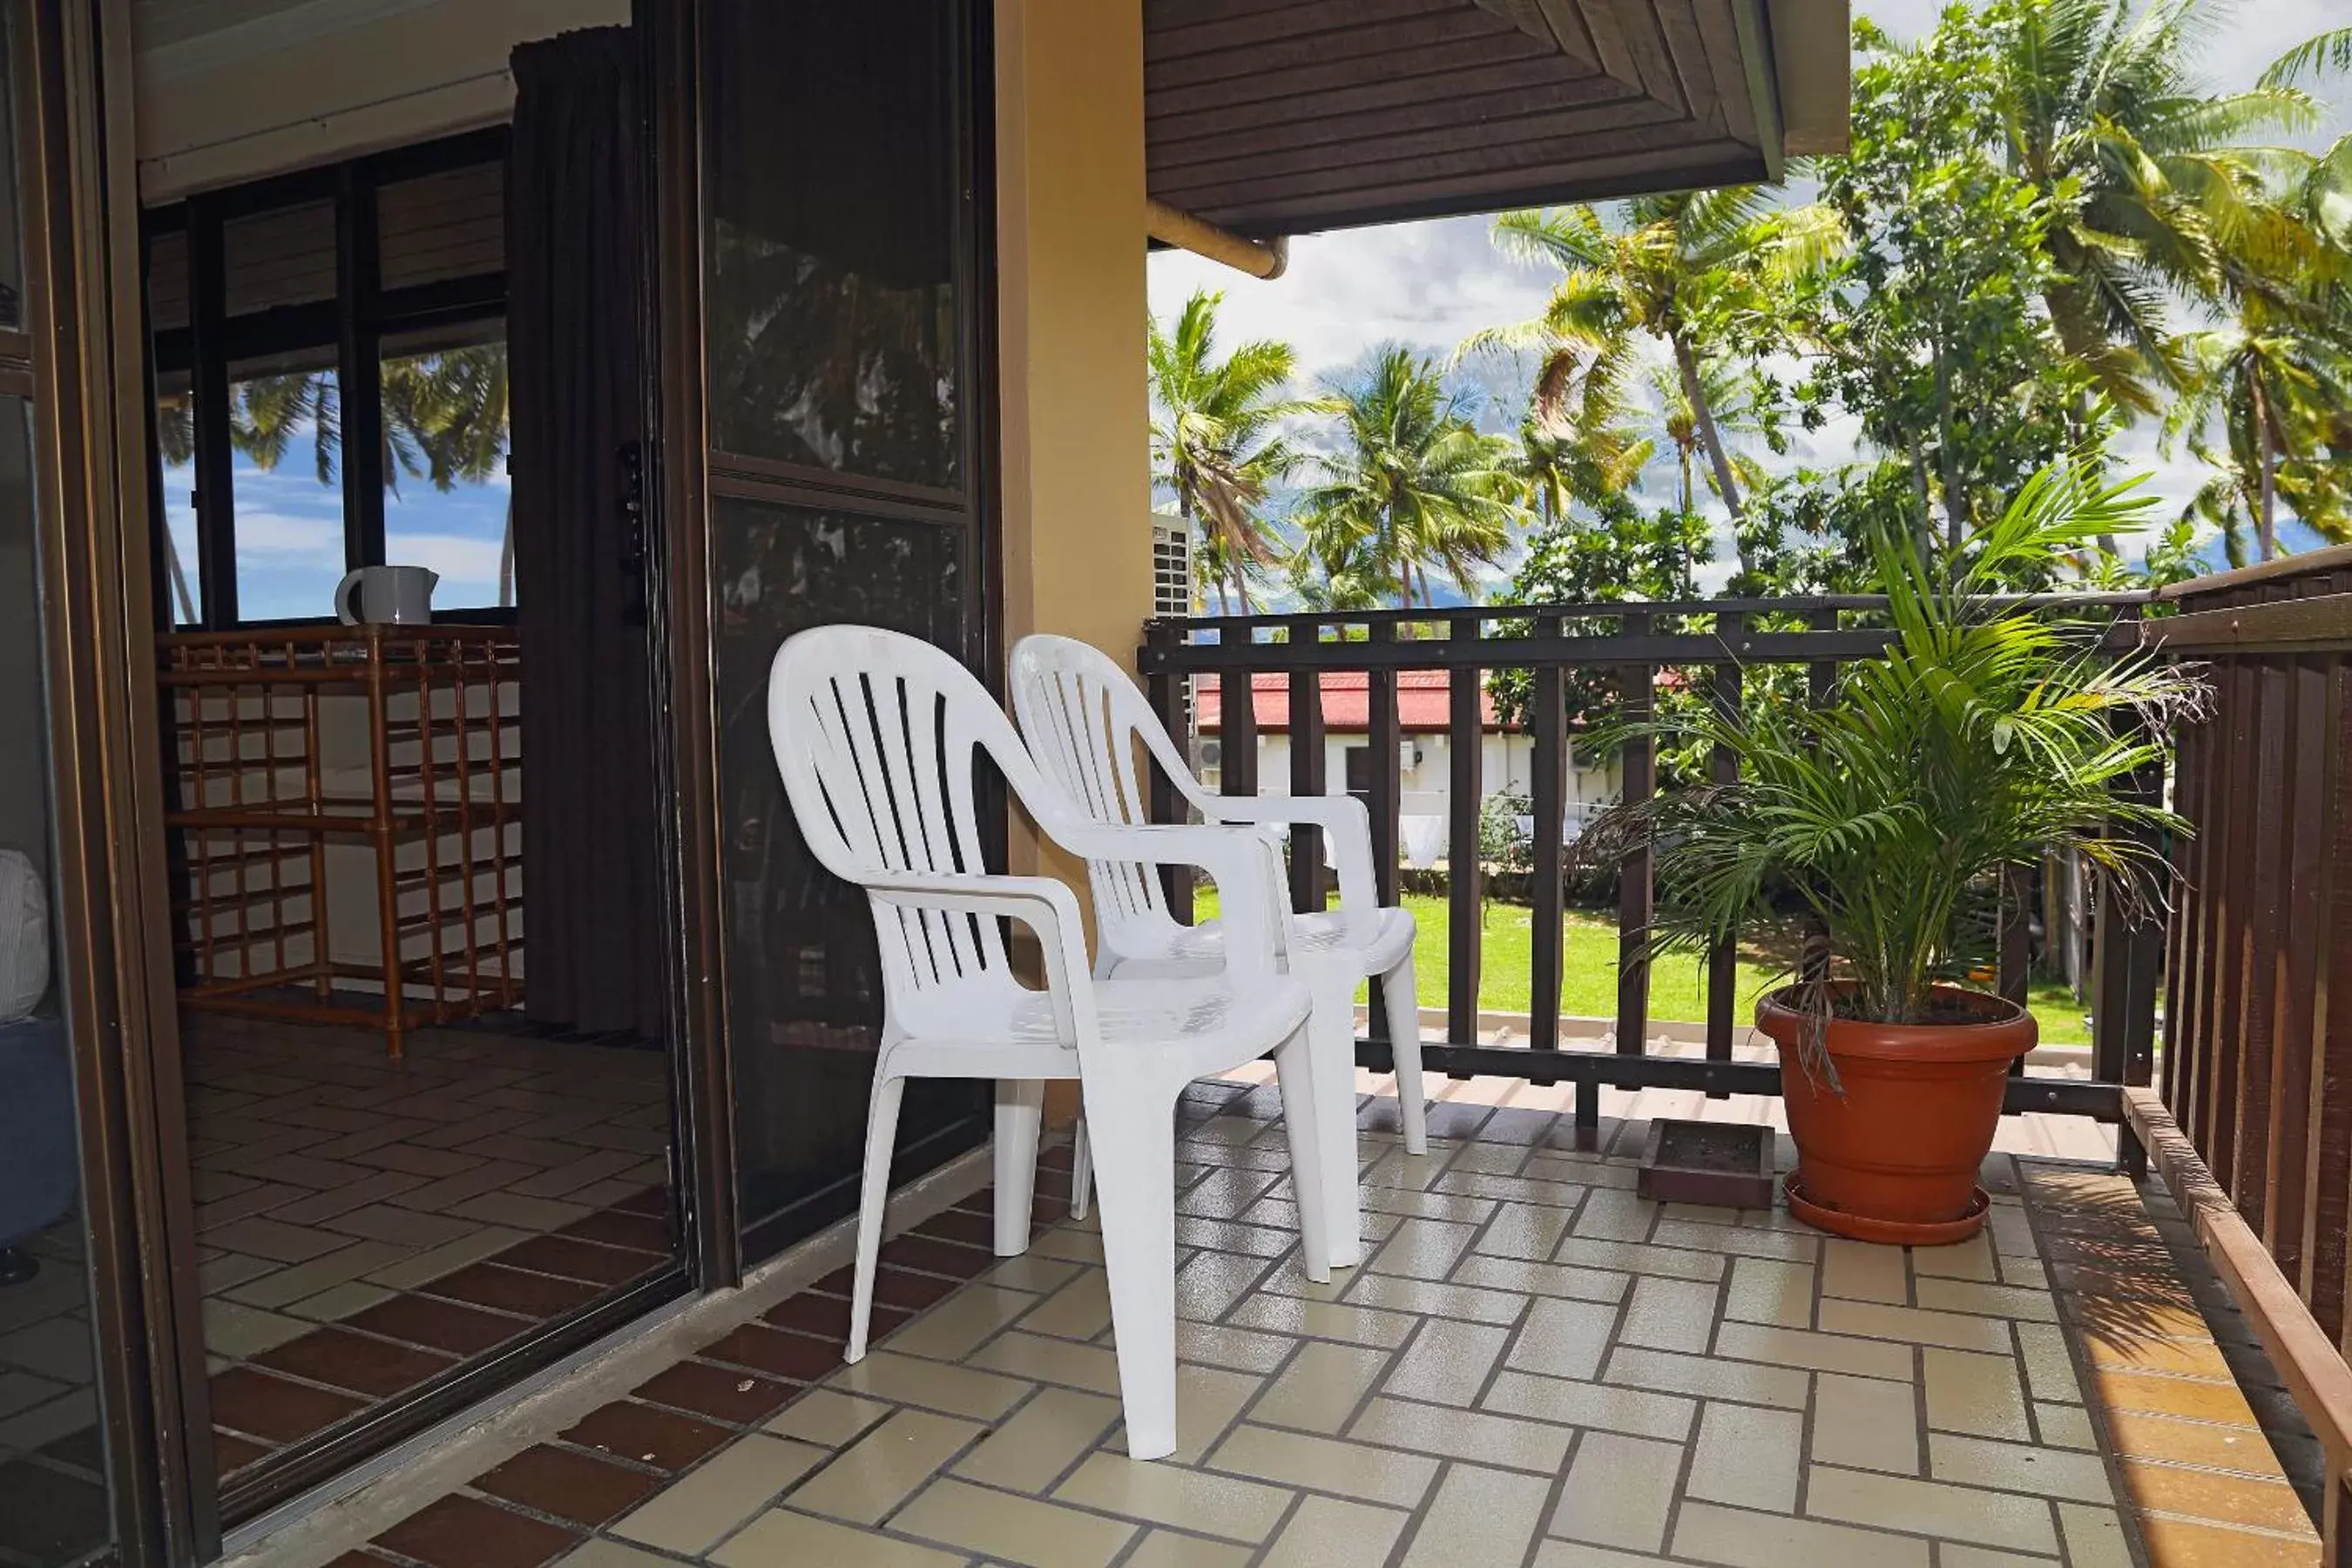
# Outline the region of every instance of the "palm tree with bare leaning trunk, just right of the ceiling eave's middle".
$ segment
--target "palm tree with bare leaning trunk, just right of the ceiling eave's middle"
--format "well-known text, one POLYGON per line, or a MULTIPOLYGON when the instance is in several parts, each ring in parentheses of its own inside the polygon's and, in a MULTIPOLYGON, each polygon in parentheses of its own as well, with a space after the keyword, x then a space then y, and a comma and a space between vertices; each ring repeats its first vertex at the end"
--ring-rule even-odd
MULTIPOLYGON (((1703 367, 1719 331, 1757 320, 1802 277, 1820 273, 1839 242, 1835 214, 1773 209, 1764 190, 1731 186, 1630 200, 1623 226, 1609 226, 1592 207, 1505 212, 1494 240, 1505 254, 1559 266, 1562 277, 1538 320, 1479 334, 1465 348, 1538 348, 1541 402, 1552 386, 1621 381, 1628 339, 1658 339, 1672 355, 1715 491, 1733 524, 1745 520, 1738 468, 1703 367)), ((1743 555, 1740 567, 1748 564, 1743 555)))

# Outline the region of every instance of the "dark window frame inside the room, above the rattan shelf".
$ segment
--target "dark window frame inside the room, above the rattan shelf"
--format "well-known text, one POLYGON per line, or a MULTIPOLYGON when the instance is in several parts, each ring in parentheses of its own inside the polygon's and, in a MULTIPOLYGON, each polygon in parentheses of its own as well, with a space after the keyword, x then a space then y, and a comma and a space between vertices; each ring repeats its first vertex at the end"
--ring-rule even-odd
MULTIPOLYGON (((388 183, 506 162, 508 127, 496 125, 334 165, 207 190, 141 214, 141 273, 160 235, 188 237, 188 324, 148 327, 153 376, 188 376, 195 425, 195 571, 202 604, 179 628, 169 604, 165 630, 235 630, 322 625, 332 616, 261 618, 238 614, 238 496, 235 451, 228 440, 228 367, 301 350, 334 350, 341 407, 343 569, 383 564, 383 339, 423 329, 473 327, 506 320, 506 270, 473 273, 386 289, 379 252, 379 190, 388 183), (334 299, 226 315, 223 230, 247 219, 310 202, 334 202, 334 299)), ((153 529, 158 552, 169 529, 162 482, 162 442, 155 440, 155 400, 148 400, 148 444, 155 451, 153 529)), ((510 625, 513 609, 449 609, 437 621, 510 625)))

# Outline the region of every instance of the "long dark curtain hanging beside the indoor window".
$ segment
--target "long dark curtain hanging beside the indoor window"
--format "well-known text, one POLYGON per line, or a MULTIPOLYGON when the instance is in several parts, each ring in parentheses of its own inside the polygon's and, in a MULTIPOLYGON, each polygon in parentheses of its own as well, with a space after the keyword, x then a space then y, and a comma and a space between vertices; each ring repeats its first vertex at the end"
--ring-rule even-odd
POLYGON ((644 188, 628 28, 515 49, 506 172, 524 1006, 663 1034, 642 534, 644 188))

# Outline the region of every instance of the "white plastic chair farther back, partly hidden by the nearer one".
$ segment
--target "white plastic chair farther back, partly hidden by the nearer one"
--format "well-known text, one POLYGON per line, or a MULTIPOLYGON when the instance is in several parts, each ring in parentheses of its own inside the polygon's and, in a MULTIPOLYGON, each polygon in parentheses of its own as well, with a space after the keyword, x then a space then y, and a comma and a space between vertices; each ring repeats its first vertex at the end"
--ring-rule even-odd
MULTIPOLYGON (((1023 637, 1011 663, 1014 712, 1030 755, 1103 825, 1148 820, 1138 743, 1207 823, 1315 825, 1338 867, 1338 910, 1291 917, 1298 969, 1315 987, 1315 1105, 1324 1168, 1324 1218, 1334 1267, 1364 1255, 1355 1140, 1355 987, 1371 978, 1388 1004, 1397 1056, 1397 1119, 1409 1154, 1428 1154, 1421 1088, 1421 1011, 1414 994, 1414 917, 1381 905, 1371 877, 1371 813, 1352 795, 1211 795, 1185 766, 1150 703, 1101 649, 1070 637, 1023 637)), ((1244 698, 1247 701, 1247 698, 1244 698)), ((1129 860, 1089 860, 1098 976, 1202 976, 1244 959, 1230 919, 1178 924, 1160 879, 1129 860)), ((1218 884, 1223 898, 1223 884, 1218 884)), ((1230 903, 1221 905, 1230 910, 1230 903)), ((1287 1100, 1284 1100, 1287 1103, 1287 1100)), ((1080 1126, 1073 1208, 1084 1213, 1089 1157, 1101 1138, 1080 1126)), ((1303 1182, 1298 1182, 1303 1185, 1303 1182)))

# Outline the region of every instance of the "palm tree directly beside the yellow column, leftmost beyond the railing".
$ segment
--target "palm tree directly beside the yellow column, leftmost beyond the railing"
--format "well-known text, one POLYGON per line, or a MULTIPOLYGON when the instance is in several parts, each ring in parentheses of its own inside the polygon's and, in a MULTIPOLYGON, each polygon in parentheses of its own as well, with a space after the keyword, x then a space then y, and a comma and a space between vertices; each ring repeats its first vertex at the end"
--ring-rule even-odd
POLYGON ((1282 423, 1310 404, 1284 400, 1296 369, 1289 343, 1258 339, 1216 355, 1216 308, 1223 294, 1195 289, 1174 331, 1150 322, 1152 482, 1174 491, 1176 510, 1202 534, 1195 574, 1230 588, 1249 614, 1249 578, 1279 559, 1258 508, 1265 491, 1298 465, 1282 423))

